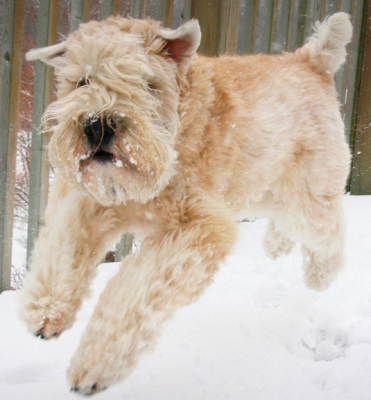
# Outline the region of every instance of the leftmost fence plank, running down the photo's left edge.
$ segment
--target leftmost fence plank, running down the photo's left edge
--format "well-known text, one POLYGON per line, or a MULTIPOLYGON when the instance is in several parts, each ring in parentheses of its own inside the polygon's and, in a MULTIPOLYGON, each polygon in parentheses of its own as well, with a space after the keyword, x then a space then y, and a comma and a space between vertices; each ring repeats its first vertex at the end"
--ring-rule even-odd
POLYGON ((0 293, 10 289, 25 2, 5 0, 0 71, 0 293))

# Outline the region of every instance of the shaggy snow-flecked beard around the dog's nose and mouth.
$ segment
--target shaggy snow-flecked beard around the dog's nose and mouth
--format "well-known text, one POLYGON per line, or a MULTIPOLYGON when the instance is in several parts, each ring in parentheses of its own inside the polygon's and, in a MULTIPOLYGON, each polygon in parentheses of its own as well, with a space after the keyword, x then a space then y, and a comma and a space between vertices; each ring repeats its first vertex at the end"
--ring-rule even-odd
POLYGON ((111 144, 96 146, 88 143, 79 118, 53 130, 49 145, 52 165, 102 205, 131 200, 145 203, 174 174, 176 152, 171 136, 160 125, 144 124, 137 118, 126 124, 111 144))

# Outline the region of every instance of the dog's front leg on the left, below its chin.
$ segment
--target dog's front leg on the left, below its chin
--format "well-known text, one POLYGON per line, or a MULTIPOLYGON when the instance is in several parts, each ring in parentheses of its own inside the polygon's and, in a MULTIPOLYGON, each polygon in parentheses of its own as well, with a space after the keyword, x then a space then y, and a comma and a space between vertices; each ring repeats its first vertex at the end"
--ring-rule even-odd
POLYGON ((113 210, 57 178, 21 292, 21 317, 32 333, 49 339, 73 324, 118 227, 113 210))

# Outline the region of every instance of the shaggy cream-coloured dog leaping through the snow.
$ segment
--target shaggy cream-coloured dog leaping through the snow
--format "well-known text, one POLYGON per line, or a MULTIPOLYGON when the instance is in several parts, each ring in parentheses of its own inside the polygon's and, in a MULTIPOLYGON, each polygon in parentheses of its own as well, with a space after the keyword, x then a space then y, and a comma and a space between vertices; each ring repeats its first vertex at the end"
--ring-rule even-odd
MULTIPOLYGON (((164 320, 212 282, 241 216, 269 219, 276 258, 301 243, 304 279, 343 265, 350 155, 334 74, 352 27, 338 13, 279 56, 196 56, 196 20, 89 22, 29 60, 54 66, 44 115, 57 169, 22 315, 44 339, 72 326, 109 246, 142 240, 107 285, 68 371, 93 394, 124 379, 164 320)), ((251 249, 254 251, 254 249, 251 249)))

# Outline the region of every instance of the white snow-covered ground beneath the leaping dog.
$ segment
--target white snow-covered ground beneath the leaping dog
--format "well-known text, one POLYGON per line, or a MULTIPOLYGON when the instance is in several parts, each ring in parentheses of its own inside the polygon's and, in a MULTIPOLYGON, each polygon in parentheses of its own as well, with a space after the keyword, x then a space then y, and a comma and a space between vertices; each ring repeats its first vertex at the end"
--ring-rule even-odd
MULTIPOLYGON (((215 283, 167 323, 155 351, 110 400, 370 400, 371 196, 345 196, 347 268, 324 293, 305 288, 299 248, 274 262, 262 250, 265 221, 241 238, 215 283)), ((65 370, 105 282, 58 340, 27 334, 17 293, 0 295, 0 398, 77 399, 65 370)))

